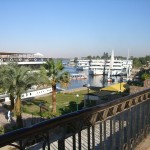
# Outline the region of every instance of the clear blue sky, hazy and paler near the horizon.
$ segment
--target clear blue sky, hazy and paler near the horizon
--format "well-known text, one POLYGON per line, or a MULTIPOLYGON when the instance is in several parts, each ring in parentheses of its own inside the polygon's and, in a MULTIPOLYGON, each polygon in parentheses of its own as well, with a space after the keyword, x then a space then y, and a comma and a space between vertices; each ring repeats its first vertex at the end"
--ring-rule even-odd
POLYGON ((150 0, 0 0, 0 51, 150 55, 150 0))

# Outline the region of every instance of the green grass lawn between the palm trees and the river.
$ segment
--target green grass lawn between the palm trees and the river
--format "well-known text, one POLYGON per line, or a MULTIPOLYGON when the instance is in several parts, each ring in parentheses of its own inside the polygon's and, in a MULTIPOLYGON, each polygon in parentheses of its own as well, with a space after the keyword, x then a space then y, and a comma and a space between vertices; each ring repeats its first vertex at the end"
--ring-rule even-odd
MULTIPOLYGON (((90 91, 92 93, 94 91, 90 91)), ((60 116, 62 114, 70 113, 77 110, 77 103, 79 109, 82 109, 84 105, 84 94, 87 94, 87 90, 73 92, 73 93, 57 93, 56 94, 56 106, 57 106, 57 113, 53 114, 55 116, 60 116), (79 97, 76 97, 76 95, 79 97)), ((42 103, 48 110, 42 109, 42 116, 51 116, 50 113, 51 109, 51 95, 36 98, 33 100, 24 101, 22 105, 23 112, 33 114, 33 115, 40 115, 40 107, 39 105, 42 103)))

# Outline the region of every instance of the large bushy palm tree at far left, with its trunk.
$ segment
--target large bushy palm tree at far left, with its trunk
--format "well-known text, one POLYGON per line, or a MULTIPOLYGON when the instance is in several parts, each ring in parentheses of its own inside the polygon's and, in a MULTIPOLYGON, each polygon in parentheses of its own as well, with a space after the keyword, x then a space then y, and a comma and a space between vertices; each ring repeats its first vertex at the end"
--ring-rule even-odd
POLYGON ((8 65, 4 70, 2 83, 4 88, 10 92, 10 95, 13 98, 16 97, 14 111, 17 117, 17 125, 22 127, 21 94, 38 83, 38 76, 31 72, 30 68, 19 67, 18 65, 8 65))

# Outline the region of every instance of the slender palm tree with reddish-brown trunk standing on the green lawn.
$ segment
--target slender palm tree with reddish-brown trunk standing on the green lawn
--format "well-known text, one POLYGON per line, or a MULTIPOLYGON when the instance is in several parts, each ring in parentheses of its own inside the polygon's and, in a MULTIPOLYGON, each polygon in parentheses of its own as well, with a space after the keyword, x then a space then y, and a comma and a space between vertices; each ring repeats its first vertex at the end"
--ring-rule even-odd
POLYGON ((70 76, 67 71, 64 71, 64 66, 60 60, 54 61, 50 59, 44 64, 47 70, 50 84, 52 86, 52 112, 56 112, 56 84, 60 83, 61 86, 67 87, 70 83, 70 76))

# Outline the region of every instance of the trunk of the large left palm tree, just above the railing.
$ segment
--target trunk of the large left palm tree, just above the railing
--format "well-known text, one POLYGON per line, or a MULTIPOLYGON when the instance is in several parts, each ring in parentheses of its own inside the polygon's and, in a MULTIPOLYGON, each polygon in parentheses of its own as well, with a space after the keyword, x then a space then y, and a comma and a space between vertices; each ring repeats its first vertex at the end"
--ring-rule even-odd
POLYGON ((16 117, 17 117, 17 126, 19 128, 22 128, 23 122, 22 122, 22 116, 21 116, 21 99, 20 99, 20 97, 17 97, 17 99, 16 99, 15 113, 16 113, 16 117))

